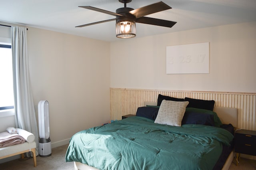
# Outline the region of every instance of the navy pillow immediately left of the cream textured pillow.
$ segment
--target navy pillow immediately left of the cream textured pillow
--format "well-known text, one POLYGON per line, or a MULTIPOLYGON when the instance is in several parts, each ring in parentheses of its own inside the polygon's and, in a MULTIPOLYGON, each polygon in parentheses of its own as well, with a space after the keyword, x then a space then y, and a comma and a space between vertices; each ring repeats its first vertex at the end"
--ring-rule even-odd
POLYGON ((156 107, 138 107, 136 116, 145 117, 151 120, 155 120, 158 114, 159 108, 156 107))

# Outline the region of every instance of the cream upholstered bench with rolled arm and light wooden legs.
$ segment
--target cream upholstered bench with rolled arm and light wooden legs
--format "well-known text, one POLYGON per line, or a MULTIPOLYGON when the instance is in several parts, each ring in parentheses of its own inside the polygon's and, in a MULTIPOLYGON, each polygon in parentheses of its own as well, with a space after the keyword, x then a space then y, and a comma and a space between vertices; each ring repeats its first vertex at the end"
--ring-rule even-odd
POLYGON ((33 153, 34 167, 36 167, 36 142, 34 141, 34 134, 20 128, 16 128, 16 130, 26 142, 0 148, 0 159, 18 154, 21 154, 21 158, 24 158, 24 153, 31 151, 33 153))

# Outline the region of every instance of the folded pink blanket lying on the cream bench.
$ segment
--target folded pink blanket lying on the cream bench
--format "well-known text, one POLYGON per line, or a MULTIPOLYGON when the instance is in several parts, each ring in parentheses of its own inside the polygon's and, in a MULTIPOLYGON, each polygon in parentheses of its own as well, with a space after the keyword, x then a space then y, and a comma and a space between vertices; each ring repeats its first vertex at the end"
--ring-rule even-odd
POLYGON ((26 140, 19 134, 10 134, 9 132, 0 133, 0 148, 24 142, 26 142, 26 140))

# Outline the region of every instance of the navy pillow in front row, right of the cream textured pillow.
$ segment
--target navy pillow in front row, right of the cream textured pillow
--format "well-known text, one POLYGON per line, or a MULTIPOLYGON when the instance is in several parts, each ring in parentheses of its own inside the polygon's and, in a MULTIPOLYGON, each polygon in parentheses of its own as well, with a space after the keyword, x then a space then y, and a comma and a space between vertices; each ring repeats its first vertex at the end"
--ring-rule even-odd
POLYGON ((214 115, 186 111, 184 113, 181 125, 186 124, 208 125, 214 127, 214 115))

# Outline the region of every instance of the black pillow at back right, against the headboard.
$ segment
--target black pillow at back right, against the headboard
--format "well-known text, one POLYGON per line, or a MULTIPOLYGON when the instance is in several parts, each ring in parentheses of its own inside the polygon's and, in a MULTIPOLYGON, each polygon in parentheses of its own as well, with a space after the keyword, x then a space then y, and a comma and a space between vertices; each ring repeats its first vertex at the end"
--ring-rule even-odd
POLYGON ((201 100, 201 99, 191 99, 188 97, 185 97, 185 101, 188 101, 188 106, 187 107, 194 107, 197 109, 206 109, 213 111, 214 107, 214 100, 201 100))

